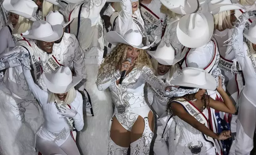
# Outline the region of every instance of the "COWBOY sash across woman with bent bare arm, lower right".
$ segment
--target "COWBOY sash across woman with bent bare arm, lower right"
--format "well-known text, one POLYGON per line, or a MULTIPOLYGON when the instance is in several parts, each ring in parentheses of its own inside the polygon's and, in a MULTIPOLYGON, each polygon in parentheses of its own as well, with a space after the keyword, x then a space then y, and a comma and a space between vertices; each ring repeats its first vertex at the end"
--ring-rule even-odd
MULTIPOLYGON (((181 104, 183 106, 183 108, 186 110, 186 112, 188 112, 196 120, 198 120, 198 122, 202 123, 209 129, 208 118, 206 118, 204 113, 202 113, 200 110, 198 110, 198 108, 196 108, 196 106, 194 106, 194 104, 192 104, 189 101, 186 101, 186 102, 180 102, 178 100, 174 100, 174 101, 181 104)), ((213 138, 211 138, 203 133, 202 133, 202 135, 203 135, 204 139, 211 144, 212 147, 215 147, 215 142, 214 142, 213 138)))

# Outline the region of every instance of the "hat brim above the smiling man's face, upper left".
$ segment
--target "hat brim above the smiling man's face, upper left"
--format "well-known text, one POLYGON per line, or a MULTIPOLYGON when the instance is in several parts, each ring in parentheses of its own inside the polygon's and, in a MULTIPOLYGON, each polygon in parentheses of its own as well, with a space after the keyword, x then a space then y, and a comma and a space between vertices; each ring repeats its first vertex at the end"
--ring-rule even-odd
POLYGON ((56 40, 59 40, 62 37, 63 27, 62 25, 52 25, 52 30, 54 33, 47 37, 37 38, 35 36, 32 36, 32 30, 29 30, 29 34, 23 35, 22 37, 34 40, 41 40, 44 42, 55 42, 56 40))

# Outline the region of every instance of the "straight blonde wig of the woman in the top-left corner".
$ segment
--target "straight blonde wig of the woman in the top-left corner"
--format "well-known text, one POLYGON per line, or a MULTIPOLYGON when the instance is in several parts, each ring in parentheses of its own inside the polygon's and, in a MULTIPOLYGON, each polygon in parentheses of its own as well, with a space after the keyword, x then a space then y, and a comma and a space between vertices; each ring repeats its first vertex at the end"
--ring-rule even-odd
MULTIPOLYGON (((10 23, 10 20, 8 23, 10 23)), ((29 30, 31 28, 32 23, 33 22, 30 21, 29 19, 26 19, 19 15, 18 22, 17 22, 15 28, 12 30, 12 34, 21 34, 23 32, 26 32, 27 30, 29 30)))

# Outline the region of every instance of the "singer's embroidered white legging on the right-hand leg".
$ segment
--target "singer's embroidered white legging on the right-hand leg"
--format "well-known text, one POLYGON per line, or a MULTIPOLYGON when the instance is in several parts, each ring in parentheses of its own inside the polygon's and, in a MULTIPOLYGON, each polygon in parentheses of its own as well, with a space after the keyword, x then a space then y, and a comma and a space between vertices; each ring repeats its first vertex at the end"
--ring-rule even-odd
POLYGON ((148 118, 145 117, 145 128, 142 137, 130 144, 131 155, 149 155, 150 144, 154 133, 149 128, 148 118))

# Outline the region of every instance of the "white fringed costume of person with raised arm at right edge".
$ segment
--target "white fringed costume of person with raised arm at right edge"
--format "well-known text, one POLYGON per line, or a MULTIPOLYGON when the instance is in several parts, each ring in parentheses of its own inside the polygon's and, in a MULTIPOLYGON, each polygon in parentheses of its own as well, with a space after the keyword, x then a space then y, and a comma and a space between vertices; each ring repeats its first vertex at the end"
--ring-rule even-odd
POLYGON ((236 155, 250 155, 253 148, 253 136, 255 133, 256 98, 255 85, 253 82, 256 78, 255 53, 250 49, 250 45, 243 42, 243 30, 248 22, 248 17, 255 17, 249 12, 242 14, 241 22, 234 30, 233 50, 237 62, 243 71, 244 80, 246 81, 244 89, 239 97, 239 111, 237 118, 237 136, 235 142, 236 155))

